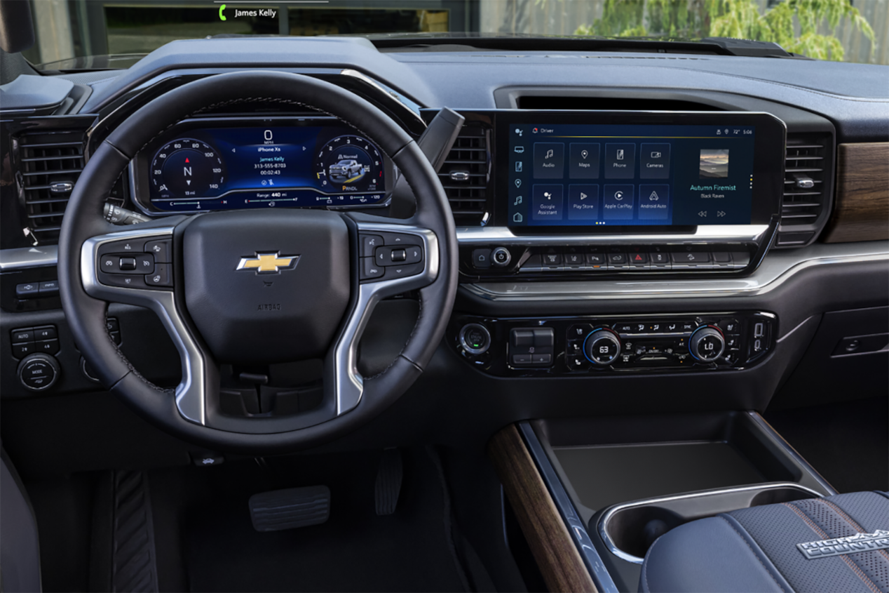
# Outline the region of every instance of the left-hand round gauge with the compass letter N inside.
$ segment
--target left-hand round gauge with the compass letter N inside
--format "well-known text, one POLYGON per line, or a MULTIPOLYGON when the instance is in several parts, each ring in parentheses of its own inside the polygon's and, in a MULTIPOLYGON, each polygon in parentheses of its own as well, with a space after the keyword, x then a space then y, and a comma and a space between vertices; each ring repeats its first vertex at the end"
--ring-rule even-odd
POLYGON ((181 138, 157 151, 150 180, 160 199, 216 196, 225 183, 225 164, 206 142, 181 138))

